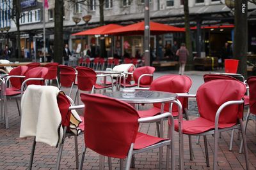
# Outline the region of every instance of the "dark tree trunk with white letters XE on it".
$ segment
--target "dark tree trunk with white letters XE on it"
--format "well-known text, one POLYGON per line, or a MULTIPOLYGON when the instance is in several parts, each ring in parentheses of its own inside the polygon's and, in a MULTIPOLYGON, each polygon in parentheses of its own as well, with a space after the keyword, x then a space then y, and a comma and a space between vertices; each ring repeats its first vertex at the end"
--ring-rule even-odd
POLYGON ((234 58, 239 60, 237 73, 247 78, 247 50, 248 50, 248 24, 247 24, 247 0, 235 1, 235 35, 234 58))

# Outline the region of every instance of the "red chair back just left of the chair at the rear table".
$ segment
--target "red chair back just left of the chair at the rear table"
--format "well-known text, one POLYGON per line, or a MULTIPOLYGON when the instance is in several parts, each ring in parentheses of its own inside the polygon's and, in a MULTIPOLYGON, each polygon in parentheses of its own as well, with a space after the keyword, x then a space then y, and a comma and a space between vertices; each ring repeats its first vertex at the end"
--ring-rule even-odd
POLYGON ((59 65, 60 68, 60 84, 62 87, 71 87, 76 80, 76 70, 73 67, 59 65))

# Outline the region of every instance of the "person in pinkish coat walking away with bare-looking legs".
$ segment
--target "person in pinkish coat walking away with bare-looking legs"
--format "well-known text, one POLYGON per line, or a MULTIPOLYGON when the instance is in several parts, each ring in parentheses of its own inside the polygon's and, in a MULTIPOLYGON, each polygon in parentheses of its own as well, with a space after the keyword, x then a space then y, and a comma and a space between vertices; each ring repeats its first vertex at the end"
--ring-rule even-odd
POLYGON ((185 43, 182 43, 179 50, 177 50, 176 55, 179 57, 180 69, 179 74, 183 75, 185 71, 186 62, 188 59, 189 52, 186 48, 185 43))

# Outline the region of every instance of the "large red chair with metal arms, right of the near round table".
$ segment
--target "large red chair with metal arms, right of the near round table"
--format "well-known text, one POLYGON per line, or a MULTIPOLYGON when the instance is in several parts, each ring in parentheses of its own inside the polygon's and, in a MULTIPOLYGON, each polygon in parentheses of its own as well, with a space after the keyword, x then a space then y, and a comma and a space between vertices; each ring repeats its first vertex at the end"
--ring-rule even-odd
MULTIPOLYGON (((242 120, 245 92, 246 86, 241 81, 212 80, 204 83, 198 88, 196 96, 187 96, 196 97, 200 117, 195 120, 181 121, 179 119, 179 121, 175 121, 175 131, 179 131, 180 134, 204 136, 207 166, 209 166, 209 156, 206 135, 214 134, 213 169, 216 169, 217 166, 219 132, 230 131, 234 128, 241 129, 245 141, 246 169, 249 168, 242 120), (181 128, 179 129, 179 127, 181 128)), ((186 95, 182 97, 186 97, 186 95)), ((180 139, 183 139, 182 136, 180 139)), ((181 158, 183 158, 183 141, 180 143, 180 149, 181 158)), ((182 164, 184 164, 183 160, 182 164)))

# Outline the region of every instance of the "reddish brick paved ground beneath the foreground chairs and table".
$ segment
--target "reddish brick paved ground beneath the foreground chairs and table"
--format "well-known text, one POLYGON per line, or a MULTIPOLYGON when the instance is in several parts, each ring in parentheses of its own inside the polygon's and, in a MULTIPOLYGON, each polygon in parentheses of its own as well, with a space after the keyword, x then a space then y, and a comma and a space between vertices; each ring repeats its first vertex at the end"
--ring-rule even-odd
MULTIPOLYGON (((67 89, 63 89, 67 92, 67 89)), ((147 106, 149 107, 149 106, 147 106)), ((195 101, 190 101, 189 107, 191 110, 190 118, 195 118, 196 104, 195 101)), ((4 125, 0 125, 0 169, 28 169, 29 155, 33 138, 20 139, 20 117, 17 112, 15 101, 8 101, 8 113, 10 114, 10 129, 4 129, 4 125)), ((80 111, 79 113, 82 113, 80 111)), ((166 123, 165 123, 166 124, 166 123)), ((141 124, 140 131, 148 134, 156 135, 156 124, 141 124)), ((256 167, 256 136, 255 136, 255 120, 250 120, 247 131, 249 161, 250 168, 256 167)), ((204 142, 201 138, 201 143, 196 145, 196 138, 193 137, 193 150, 195 160, 189 160, 188 137, 184 137, 184 155, 185 169, 212 169, 213 161, 213 138, 208 136, 210 166, 205 164, 204 142)), ((79 136, 79 150, 82 148, 83 136, 79 136)), ((175 133, 175 165, 179 168, 179 141, 177 133, 175 133)), ((237 132, 235 134, 233 151, 228 151, 230 141, 230 132, 223 132, 223 138, 220 139, 220 147, 218 152, 218 166, 220 169, 245 169, 244 155, 239 154, 240 141, 237 140, 237 132)), ((63 156, 61 159, 61 169, 76 169, 74 157, 74 139, 66 139, 63 148, 63 156)), ((164 148, 165 149, 165 148, 164 148)), ((38 143, 36 145, 35 159, 33 169, 54 169, 56 163, 56 155, 58 148, 38 143)), ((165 157, 165 155, 164 155, 165 157)), ((113 167, 119 169, 119 160, 113 159, 113 167)), ((163 159, 163 164, 165 164, 163 159)), ((106 167, 108 164, 106 162, 106 167)), ((84 161, 84 169, 99 169, 99 156, 92 152, 86 151, 86 159, 84 161)), ((113 168, 114 169, 114 168, 113 168)), ((148 153, 136 155, 135 169, 158 169, 158 150, 153 150, 148 153)))

